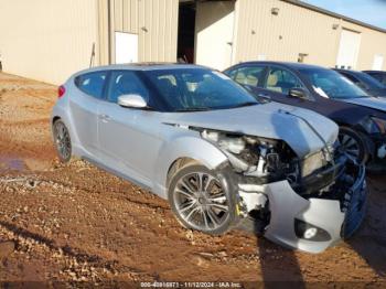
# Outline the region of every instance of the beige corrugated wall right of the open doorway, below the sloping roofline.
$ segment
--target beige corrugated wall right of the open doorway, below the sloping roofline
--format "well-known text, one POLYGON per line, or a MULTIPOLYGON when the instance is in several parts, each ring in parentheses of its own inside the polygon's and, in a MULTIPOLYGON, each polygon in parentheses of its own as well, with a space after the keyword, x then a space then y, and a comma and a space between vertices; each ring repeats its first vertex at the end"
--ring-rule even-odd
POLYGON ((362 34, 357 69, 371 68, 375 54, 386 60, 386 33, 288 2, 237 0, 234 63, 264 56, 271 61, 297 62, 299 53, 305 53, 305 63, 333 67, 342 28, 362 34), (278 15, 271 13, 272 8, 279 9, 278 15), (339 28, 333 29, 334 24, 339 28))

